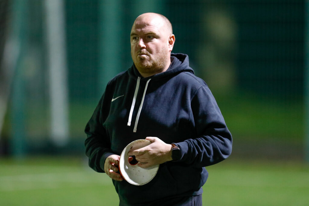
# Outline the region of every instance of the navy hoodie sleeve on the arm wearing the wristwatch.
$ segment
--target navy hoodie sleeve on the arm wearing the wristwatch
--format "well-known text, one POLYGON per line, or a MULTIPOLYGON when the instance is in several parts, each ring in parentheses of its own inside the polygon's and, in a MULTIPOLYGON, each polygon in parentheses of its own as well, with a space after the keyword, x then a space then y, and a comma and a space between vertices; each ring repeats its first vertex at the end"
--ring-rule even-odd
POLYGON ((208 86, 200 86, 191 100, 196 138, 175 143, 179 162, 205 167, 226 159, 232 150, 232 136, 208 86))

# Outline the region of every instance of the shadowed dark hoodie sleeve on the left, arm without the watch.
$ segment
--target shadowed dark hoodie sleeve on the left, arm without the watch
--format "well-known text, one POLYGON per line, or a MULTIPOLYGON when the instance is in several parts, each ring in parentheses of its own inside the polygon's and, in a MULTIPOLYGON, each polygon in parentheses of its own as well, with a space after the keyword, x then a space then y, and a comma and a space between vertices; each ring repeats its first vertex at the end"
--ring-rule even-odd
POLYGON ((89 166, 97 172, 104 172, 105 159, 113 154, 110 149, 110 140, 103 127, 103 120, 106 118, 109 111, 107 109, 109 108, 109 101, 105 99, 106 93, 103 94, 85 128, 85 133, 87 134, 85 148, 86 155, 89 158, 88 163, 89 166))

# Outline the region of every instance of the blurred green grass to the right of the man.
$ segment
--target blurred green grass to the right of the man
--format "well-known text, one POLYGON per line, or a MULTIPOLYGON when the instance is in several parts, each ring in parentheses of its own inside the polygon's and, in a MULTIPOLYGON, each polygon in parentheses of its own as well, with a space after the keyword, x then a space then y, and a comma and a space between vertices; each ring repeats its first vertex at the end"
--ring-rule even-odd
POLYGON ((308 205, 309 167, 286 162, 228 161, 208 167, 209 205, 308 205))

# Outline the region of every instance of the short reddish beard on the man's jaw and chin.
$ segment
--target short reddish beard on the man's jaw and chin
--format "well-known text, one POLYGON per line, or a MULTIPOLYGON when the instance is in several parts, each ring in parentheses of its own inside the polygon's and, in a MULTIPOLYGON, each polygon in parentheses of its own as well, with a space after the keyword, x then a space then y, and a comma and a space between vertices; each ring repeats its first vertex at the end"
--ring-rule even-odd
POLYGON ((140 73, 153 75, 161 73, 165 69, 168 57, 167 48, 162 48, 155 56, 150 56, 148 53, 146 57, 138 56, 140 53, 144 52, 140 50, 138 50, 137 54, 132 54, 131 52, 133 63, 140 73))

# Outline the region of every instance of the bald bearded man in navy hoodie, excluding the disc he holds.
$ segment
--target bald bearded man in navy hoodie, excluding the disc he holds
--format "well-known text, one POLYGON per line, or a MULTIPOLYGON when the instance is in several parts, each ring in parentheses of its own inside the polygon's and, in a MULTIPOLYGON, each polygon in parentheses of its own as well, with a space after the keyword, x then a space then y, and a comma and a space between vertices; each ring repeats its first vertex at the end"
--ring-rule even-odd
POLYGON ((85 128, 89 166, 112 179, 120 205, 202 205, 205 166, 231 154, 231 133, 188 56, 171 53, 166 17, 138 16, 130 37, 134 64, 108 82, 85 128), (151 144, 128 155, 142 168, 160 166, 154 179, 135 186, 118 173, 119 155, 144 138, 151 144))

